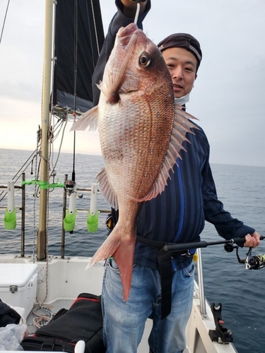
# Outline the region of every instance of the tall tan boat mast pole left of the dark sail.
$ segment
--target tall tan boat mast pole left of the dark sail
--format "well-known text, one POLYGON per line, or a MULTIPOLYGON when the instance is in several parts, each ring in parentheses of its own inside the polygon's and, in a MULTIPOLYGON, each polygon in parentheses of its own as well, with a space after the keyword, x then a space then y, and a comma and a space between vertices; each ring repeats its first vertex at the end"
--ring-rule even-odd
POLYGON ((47 258, 47 192, 49 160, 49 102, 52 72, 52 24, 53 0, 45 1, 45 43, 42 78, 42 123, 41 123, 41 161, 40 161, 40 218, 37 231, 37 260, 47 258))

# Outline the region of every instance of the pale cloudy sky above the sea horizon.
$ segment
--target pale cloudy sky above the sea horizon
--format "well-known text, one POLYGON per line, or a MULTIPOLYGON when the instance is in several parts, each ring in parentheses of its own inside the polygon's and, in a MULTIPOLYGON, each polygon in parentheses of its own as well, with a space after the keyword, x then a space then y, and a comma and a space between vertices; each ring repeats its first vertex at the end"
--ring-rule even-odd
MULTIPOLYGON (((8 0, 0 1, 0 31, 8 0)), ((107 26, 114 0, 101 0, 107 26)), ((41 121, 45 0, 11 0, 0 44, 0 148, 35 150, 41 121)), ((187 104, 211 145, 212 163, 265 167, 265 1, 153 0, 143 30, 156 44, 174 32, 201 43, 187 104)), ((62 152, 73 150, 71 123, 62 152)), ((59 148, 59 138, 55 149, 59 148)), ((76 152, 98 155, 97 132, 77 132, 76 152)))

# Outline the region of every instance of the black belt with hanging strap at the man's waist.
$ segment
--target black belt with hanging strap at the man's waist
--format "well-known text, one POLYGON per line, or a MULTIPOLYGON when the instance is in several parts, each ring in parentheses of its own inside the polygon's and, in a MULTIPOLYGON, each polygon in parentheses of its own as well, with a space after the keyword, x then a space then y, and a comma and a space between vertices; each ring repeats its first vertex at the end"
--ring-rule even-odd
MULTIPOLYGON (((158 251, 158 265, 161 280, 161 320, 166 318, 171 311, 171 297, 172 297, 172 257, 175 257, 169 251, 165 251, 163 247, 167 244, 165 241, 155 241, 143 237, 136 237, 136 240, 143 244, 150 245, 153 249, 158 251)), ((189 253, 176 253, 177 256, 189 256, 189 253)))

